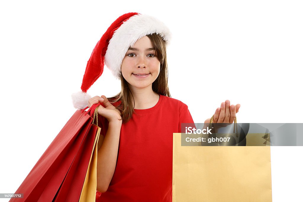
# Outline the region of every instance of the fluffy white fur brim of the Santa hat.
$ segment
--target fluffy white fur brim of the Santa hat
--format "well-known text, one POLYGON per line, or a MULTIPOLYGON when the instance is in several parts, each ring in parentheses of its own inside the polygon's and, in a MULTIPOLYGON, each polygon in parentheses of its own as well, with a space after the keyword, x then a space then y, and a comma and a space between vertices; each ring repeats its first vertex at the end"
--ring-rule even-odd
POLYGON ((149 15, 134 15, 115 31, 105 54, 105 65, 116 78, 120 79, 122 61, 128 48, 138 39, 153 33, 159 34, 169 43, 169 29, 163 22, 149 15))

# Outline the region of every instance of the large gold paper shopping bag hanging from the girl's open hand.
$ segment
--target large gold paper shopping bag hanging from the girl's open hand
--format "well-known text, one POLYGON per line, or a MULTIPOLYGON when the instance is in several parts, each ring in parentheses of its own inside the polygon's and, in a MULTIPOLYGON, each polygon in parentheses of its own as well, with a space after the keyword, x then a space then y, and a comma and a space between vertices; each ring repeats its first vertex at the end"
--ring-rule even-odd
POLYGON ((173 201, 272 201, 270 147, 181 146, 173 135, 173 201))

